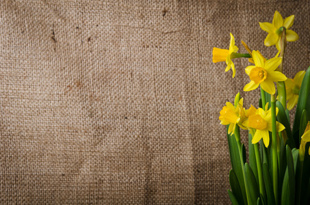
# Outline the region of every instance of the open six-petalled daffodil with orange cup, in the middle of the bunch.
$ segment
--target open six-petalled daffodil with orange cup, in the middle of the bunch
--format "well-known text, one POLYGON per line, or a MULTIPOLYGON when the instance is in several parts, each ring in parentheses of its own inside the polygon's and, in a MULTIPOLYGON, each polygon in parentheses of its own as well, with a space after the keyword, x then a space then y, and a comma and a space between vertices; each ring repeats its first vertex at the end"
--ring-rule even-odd
POLYGON ((250 83, 244 86, 244 91, 255 90, 259 85, 269 94, 274 94, 276 88, 274 82, 285 81, 287 77, 282 72, 274 71, 281 64, 281 57, 273 57, 264 62, 263 57, 257 51, 252 52, 255 66, 246 67, 246 74, 250 77, 250 83))

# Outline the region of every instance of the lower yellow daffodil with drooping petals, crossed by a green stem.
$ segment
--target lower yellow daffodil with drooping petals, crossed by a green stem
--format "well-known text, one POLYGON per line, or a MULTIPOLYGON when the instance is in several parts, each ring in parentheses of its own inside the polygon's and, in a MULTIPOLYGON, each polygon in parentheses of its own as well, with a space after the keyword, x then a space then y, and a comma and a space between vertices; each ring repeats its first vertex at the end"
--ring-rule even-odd
MULTIPOLYGON (((251 108, 250 108, 251 109, 251 108)), ((254 108, 255 109, 255 108, 254 108)), ((254 110, 252 109, 252 111, 254 110)), ((279 109, 276 108, 276 114, 279 109)), ((269 133, 268 131, 272 131, 272 120, 271 120, 271 109, 268 109, 268 105, 266 105, 266 109, 263 110, 261 108, 257 109, 255 113, 251 113, 248 116, 248 120, 243 122, 243 125, 247 128, 255 129, 255 133, 251 132, 253 135, 252 143, 257 143, 261 138, 263 138, 263 143, 266 148, 269 146, 269 133)), ((278 132, 283 131, 285 127, 280 122, 276 122, 276 130, 278 132)))

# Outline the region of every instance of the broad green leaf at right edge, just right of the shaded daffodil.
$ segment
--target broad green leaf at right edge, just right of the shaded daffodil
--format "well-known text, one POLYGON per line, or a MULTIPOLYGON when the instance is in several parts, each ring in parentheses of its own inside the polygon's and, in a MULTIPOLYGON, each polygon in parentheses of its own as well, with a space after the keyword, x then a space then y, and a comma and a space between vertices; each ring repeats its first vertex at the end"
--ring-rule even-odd
POLYGON ((310 66, 307 69, 304 79, 302 80, 300 91, 299 91, 299 96, 298 96, 298 102, 297 102, 294 125, 293 125, 293 132, 292 132, 294 136, 295 144, 298 144, 299 142, 298 130, 300 128, 300 119, 302 116, 302 111, 306 109, 307 111, 310 112, 309 92, 310 92, 310 66))

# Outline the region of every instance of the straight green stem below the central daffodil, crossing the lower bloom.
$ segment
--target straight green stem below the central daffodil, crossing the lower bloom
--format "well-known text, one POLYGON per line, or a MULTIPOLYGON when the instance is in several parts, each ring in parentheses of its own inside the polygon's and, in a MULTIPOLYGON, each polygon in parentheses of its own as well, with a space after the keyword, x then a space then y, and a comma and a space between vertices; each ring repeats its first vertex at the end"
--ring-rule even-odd
POLYGON ((278 200, 278 157, 276 144, 276 96, 271 96, 271 119, 272 119, 272 182, 274 187, 274 198, 278 200))

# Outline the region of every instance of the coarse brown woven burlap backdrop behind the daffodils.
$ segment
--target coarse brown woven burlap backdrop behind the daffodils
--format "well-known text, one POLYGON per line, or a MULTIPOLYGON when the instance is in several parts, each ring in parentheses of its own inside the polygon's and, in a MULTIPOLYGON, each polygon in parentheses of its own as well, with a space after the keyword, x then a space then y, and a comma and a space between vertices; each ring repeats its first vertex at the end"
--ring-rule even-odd
POLYGON ((308 0, 0 2, 1 204, 228 204, 218 115, 248 62, 232 79, 212 47, 272 57, 258 22, 279 10, 285 74, 309 66, 308 0))

